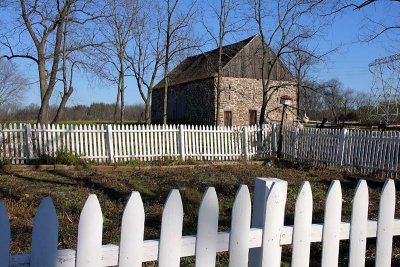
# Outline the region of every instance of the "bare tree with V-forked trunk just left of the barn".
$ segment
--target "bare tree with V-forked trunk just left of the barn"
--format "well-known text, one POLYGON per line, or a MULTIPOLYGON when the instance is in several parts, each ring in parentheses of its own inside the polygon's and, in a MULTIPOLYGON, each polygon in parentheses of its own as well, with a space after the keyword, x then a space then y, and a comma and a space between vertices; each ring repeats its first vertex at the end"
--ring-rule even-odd
POLYGON ((136 86, 145 103, 145 122, 151 123, 151 95, 158 70, 164 59, 162 20, 160 8, 148 4, 135 21, 132 53, 127 59, 136 80, 136 86), (157 14, 157 15, 154 15, 157 14))

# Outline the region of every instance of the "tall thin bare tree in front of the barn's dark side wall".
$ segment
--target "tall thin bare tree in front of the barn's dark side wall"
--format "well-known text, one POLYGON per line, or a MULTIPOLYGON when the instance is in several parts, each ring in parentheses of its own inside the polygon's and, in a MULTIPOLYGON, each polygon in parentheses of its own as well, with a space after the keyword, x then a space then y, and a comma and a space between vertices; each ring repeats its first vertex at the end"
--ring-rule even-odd
POLYGON ((180 53, 200 45, 193 42, 192 39, 195 3, 182 0, 163 0, 162 9, 164 8, 166 19, 162 24, 164 33, 163 124, 167 124, 170 65, 180 53))

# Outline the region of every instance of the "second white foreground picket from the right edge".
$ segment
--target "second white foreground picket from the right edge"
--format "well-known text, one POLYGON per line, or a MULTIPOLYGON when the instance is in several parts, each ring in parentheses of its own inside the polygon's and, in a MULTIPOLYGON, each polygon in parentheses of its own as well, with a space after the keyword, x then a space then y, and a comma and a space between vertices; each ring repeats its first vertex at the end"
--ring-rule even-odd
POLYGON ((357 184, 350 225, 350 267, 365 266, 368 223, 368 186, 365 180, 357 184))

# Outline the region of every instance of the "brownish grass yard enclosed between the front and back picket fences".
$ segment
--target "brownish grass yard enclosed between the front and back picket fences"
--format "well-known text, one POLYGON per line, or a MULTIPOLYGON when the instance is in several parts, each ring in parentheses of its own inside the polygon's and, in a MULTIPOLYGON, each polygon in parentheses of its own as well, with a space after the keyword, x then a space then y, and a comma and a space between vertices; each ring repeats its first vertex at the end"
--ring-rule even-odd
MULTIPOLYGON (((265 167, 262 165, 205 165, 196 167, 141 168, 134 171, 8 171, 0 174, 0 199, 4 201, 12 226, 12 254, 28 253, 32 221, 40 200, 51 196, 57 209, 60 237, 59 248, 76 247, 79 214, 90 193, 97 195, 104 215, 103 244, 118 243, 124 205, 131 191, 141 193, 146 211, 145 238, 158 238, 163 204, 172 188, 180 189, 185 215, 183 234, 195 234, 199 202, 204 190, 216 188, 220 205, 220 230, 228 230, 230 212, 240 184, 253 191, 254 177, 276 177, 289 182, 285 224, 293 224, 296 195, 301 182, 311 182, 314 197, 313 222, 323 222, 326 192, 333 179, 341 180, 343 190, 342 221, 351 217, 351 199, 357 177, 337 170, 265 167)), ((383 180, 370 186, 370 219, 376 219, 383 180)), ((396 217, 400 218, 400 194, 397 191, 396 217)), ((395 238, 393 258, 400 264, 400 240, 395 238)), ((374 240, 368 242, 368 265, 373 264, 374 240)), ((347 265, 348 242, 341 241, 341 265, 347 265)), ((321 244, 313 244, 312 265, 319 266, 321 244)), ((283 258, 290 262, 291 247, 285 246, 283 258)), ((227 253, 218 255, 218 266, 227 266, 227 253)), ((193 258, 182 259, 182 266, 194 266, 193 258)), ((150 264, 146 266, 153 266, 150 264)))

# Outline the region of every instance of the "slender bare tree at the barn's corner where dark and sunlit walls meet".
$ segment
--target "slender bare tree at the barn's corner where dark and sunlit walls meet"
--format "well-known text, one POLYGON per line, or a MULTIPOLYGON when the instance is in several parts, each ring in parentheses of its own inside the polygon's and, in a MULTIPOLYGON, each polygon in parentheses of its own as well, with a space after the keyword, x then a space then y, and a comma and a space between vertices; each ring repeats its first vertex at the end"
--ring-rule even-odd
POLYGON ((218 48, 218 60, 217 60, 217 85, 216 91, 216 125, 219 124, 219 113, 221 106, 221 79, 222 79, 222 56, 223 56, 223 46, 225 44, 225 39, 229 34, 233 34, 239 31, 243 25, 241 25, 241 20, 239 17, 235 16, 239 12, 241 2, 239 0, 220 0, 217 6, 210 3, 210 8, 212 11, 214 21, 207 19, 209 24, 217 24, 217 28, 213 29, 210 25, 203 22, 206 31, 210 34, 215 46, 218 48), (210 23, 211 22, 211 23, 210 23))

